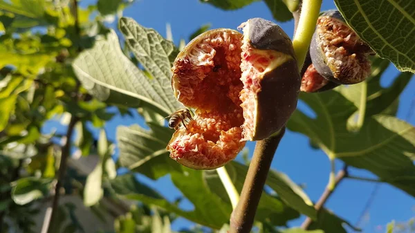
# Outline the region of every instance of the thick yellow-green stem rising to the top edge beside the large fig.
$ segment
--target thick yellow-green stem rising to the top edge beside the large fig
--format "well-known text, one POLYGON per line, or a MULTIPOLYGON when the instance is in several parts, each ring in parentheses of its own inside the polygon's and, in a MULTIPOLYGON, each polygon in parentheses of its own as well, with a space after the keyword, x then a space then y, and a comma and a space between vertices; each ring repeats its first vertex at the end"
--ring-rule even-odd
POLYGON ((293 47, 299 71, 301 71, 304 64, 304 59, 308 52, 308 46, 310 46, 311 43, 311 37, 313 37, 321 6, 322 0, 302 1, 299 22, 293 38, 293 47))

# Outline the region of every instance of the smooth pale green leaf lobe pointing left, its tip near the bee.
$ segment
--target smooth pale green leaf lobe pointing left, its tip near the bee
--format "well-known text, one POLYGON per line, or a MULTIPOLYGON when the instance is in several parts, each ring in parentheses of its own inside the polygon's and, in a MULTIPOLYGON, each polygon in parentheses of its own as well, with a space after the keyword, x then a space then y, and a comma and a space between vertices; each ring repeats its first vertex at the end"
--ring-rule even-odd
POLYGON ((162 88, 157 78, 149 80, 125 57, 113 30, 107 39, 98 38, 93 48, 80 53, 73 62, 73 69, 84 88, 102 102, 130 107, 145 105, 162 115, 175 111, 165 104, 172 102, 163 99, 167 93, 158 94, 162 88))

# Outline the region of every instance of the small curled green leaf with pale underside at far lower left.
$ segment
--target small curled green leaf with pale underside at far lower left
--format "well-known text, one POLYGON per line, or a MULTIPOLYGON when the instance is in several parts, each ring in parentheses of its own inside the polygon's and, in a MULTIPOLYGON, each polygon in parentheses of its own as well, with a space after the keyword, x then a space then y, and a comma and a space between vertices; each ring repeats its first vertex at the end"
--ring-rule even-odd
POLYGON ((12 199, 17 205, 25 205, 46 196, 52 179, 21 178, 12 184, 12 199))

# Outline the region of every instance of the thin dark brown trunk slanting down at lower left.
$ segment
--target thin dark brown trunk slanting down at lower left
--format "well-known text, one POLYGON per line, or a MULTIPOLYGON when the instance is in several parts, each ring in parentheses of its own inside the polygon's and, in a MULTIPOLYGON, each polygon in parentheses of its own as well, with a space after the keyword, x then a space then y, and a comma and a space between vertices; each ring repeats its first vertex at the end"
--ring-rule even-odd
POLYGON ((79 118, 75 115, 71 116, 71 121, 68 124, 68 129, 66 131, 66 143, 62 147, 62 156, 60 159, 59 164, 59 171, 57 174, 57 183, 55 186, 55 196, 53 196, 52 202, 52 213, 50 214, 50 221, 48 227, 48 233, 53 233, 51 230, 55 229, 55 224, 57 223, 57 207, 59 205, 59 196, 60 196, 60 189, 62 188, 62 183, 64 181, 64 176, 66 174, 66 167, 68 165, 68 157, 71 153, 71 138, 73 135, 73 129, 75 128, 75 124, 78 122, 79 118))

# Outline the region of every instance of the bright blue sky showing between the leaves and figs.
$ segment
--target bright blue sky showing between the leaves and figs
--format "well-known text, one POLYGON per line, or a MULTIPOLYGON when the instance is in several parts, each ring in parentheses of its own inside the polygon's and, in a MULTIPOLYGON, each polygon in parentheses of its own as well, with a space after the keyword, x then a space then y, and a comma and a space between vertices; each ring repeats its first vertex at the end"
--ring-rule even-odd
MULTIPOLYGON (((87 2, 91 2, 87 0, 87 2)), ((85 3, 85 2, 84 2, 85 3)), ((332 0, 324 0, 322 10, 335 8, 332 0)), ((137 0, 132 6, 124 10, 125 17, 132 17, 138 24, 147 28, 154 28, 163 37, 166 35, 166 24, 171 24, 175 44, 179 39, 187 38, 203 24, 210 24, 211 28, 233 28, 236 29, 242 22, 253 18, 262 17, 273 20, 270 10, 262 1, 252 3, 250 6, 241 10, 223 11, 216 9, 209 4, 201 3, 198 0, 137 0)), ((280 24, 288 35, 293 35, 293 21, 280 24)), ((113 24, 115 26, 115 24, 113 24)), ((385 73, 382 84, 387 86, 392 82, 397 70, 394 66, 389 66, 385 73)), ((406 120, 409 106, 414 101, 415 79, 409 83, 402 93, 398 111, 398 118, 406 120)), ((302 104, 299 104, 302 109, 302 104)), ((415 114, 409 119, 411 124, 415 124, 415 114)), ((140 118, 121 118, 116 116, 107 122, 106 131, 111 140, 115 140, 116 127, 119 125, 141 124, 140 118)), ((48 128, 48 127, 46 127, 48 128)), ((59 130, 60 131, 60 130, 59 130)), ((248 143, 250 154, 252 154, 255 144, 248 143)), ((308 138, 299 133, 287 131, 284 136, 277 154, 273 160, 273 169, 283 171, 291 177, 295 183, 306 185, 306 193, 312 201, 317 201, 320 194, 324 191, 329 178, 329 160, 326 155, 318 150, 312 150, 308 146, 308 138), (293 145, 295 145, 293 147, 293 145)), ((342 167, 342 162, 337 162, 337 167, 342 167)), ((359 169, 351 169, 351 174, 365 177, 374 177, 369 172, 359 169)), ((149 180, 147 180, 149 182, 149 180)), ((156 183, 150 183, 164 194, 169 200, 173 200, 180 195, 177 189, 170 183, 169 177, 160 178, 156 183), (170 192, 170 189, 176 191, 170 192)), ((376 184, 363 181, 344 180, 335 190, 326 203, 326 207, 333 210, 342 218, 352 224, 358 221, 362 209, 373 192, 376 184)), ((407 221, 415 216, 415 198, 395 189, 387 184, 378 187, 378 192, 374 197, 371 208, 369 209, 369 220, 364 221, 360 227, 364 232, 385 232, 385 225, 392 219, 396 221, 407 221)), ((292 221, 291 226, 299 226, 304 217, 292 221)), ((174 230, 183 226, 189 226, 189 222, 181 219, 174 223, 174 230)), ((332 232, 328 232, 332 233, 332 232)))

